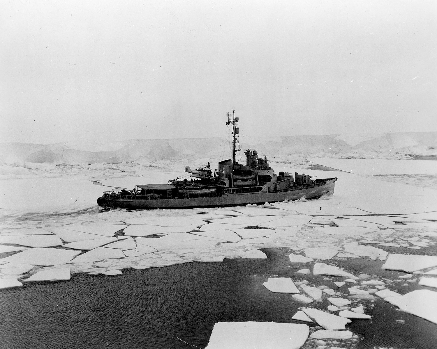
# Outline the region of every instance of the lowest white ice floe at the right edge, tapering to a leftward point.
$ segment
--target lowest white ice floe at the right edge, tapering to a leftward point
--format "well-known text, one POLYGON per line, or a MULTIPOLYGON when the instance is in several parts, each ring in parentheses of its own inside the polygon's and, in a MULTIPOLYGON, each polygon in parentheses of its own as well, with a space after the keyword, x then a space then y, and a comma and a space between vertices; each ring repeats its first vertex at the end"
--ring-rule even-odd
POLYGON ((403 296, 388 297, 384 300, 407 313, 437 324, 437 292, 416 290, 403 296))

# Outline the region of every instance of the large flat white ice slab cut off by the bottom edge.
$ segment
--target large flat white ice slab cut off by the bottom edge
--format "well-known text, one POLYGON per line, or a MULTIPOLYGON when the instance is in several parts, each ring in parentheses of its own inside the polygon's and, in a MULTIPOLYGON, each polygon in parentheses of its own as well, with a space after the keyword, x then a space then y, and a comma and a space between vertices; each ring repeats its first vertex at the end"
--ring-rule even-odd
POLYGON ((309 335, 305 324, 217 322, 205 349, 298 349, 309 335))

